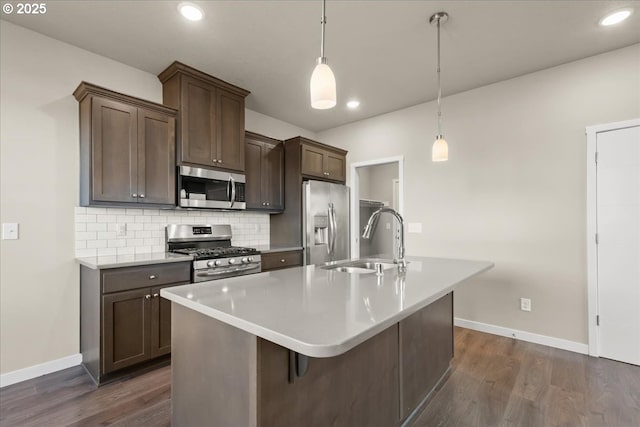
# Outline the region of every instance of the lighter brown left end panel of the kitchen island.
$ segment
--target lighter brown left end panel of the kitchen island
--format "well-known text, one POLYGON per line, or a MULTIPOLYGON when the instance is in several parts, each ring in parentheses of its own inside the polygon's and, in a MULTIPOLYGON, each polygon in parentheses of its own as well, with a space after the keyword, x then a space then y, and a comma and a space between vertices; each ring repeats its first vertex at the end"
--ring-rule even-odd
POLYGON ((171 311, 171 425, 256 427, 256 336, 180 304, 171 311))

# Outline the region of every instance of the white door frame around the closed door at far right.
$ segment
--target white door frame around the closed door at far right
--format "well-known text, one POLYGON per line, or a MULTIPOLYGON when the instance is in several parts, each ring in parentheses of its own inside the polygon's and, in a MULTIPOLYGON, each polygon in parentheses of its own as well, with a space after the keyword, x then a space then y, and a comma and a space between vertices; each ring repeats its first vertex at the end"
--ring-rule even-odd
POLYGON ((640 126, 640 119, 586 127, 587 134, 587 325, 589 355, 599 357, 598 348, 598 232, 596 148, 599 133, 640 126))

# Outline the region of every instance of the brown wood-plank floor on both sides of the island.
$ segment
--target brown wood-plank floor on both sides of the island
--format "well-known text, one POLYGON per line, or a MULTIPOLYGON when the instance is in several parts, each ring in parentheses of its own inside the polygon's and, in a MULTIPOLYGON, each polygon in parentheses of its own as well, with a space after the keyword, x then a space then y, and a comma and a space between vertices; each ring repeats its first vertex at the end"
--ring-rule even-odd
MULTIPOLYGON (((413 427, 640 426, 640 367, 461 328, 455 354, 413 427)), ((170 367, 100 388, 74 367, 1 389, 0 425, 168 426, 170 399, 170 367)))

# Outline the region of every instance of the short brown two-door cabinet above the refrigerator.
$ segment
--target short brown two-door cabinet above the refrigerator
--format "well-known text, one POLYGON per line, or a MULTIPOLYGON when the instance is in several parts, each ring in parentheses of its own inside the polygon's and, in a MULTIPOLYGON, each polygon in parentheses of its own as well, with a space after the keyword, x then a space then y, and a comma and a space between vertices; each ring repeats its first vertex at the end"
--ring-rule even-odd
POLYGON ((287 140, 287 143, 289 141, 300 145, 302 175, 323 181, 346 181, 346 151, 302 137, 287 140))

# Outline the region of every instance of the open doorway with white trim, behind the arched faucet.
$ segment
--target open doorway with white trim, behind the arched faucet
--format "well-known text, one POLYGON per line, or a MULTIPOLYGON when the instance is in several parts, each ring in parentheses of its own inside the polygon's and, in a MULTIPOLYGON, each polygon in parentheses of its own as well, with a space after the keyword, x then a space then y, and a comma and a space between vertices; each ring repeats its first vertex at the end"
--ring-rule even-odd
POLYGON ((362 239, 361 235, 371 213, 382 206, 391 207, 403 215, 403 174, 402 156, 351 164, 352 258, 372 255, 392 258, 397 253, 399 227, 393 216, 379 217, 371 239, 362 239))

